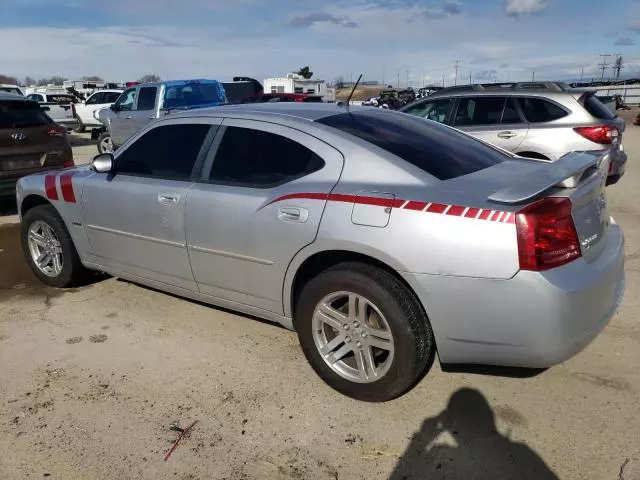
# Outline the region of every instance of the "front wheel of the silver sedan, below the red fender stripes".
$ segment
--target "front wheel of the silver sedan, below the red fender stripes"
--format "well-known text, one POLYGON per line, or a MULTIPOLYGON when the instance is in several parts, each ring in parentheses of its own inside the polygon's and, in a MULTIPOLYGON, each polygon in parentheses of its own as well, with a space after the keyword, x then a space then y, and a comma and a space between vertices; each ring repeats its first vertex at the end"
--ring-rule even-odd
POLYGON ((20 230, 27 263, 43 283, 68 288, 86 281, 89 271, 82 265, 71 235, 53 206, 29 210, 20 230))

